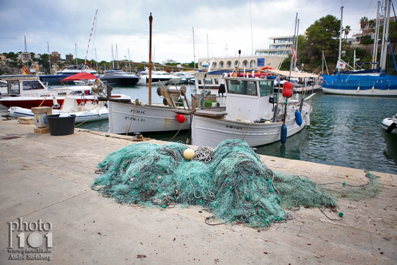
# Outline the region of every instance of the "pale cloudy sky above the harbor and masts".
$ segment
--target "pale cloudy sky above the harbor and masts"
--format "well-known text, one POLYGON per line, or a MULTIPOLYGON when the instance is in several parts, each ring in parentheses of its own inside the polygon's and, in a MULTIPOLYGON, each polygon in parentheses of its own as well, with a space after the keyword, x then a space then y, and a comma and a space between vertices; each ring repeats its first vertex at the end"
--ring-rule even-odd
POLYGON ((148 61, 151 12, 155 61, 192 62, 194 28, 197 62, 268 48, 269 37, 293 35, 296 13, 302 33, 328 14, 340 18, 342 5, 349 36, 360 32, 361 17, 376 16, 376 0, 0 0, 0 53, 24 51, 26 36, 28 52, 47 53, 48 42, 62 58, 75 57, 75 45, 85 58, 98 10, 87 59, 95 59, 96 48, 98 61, 111 61, 117 45, 119 60, 129 49, 132 61, 148 61))

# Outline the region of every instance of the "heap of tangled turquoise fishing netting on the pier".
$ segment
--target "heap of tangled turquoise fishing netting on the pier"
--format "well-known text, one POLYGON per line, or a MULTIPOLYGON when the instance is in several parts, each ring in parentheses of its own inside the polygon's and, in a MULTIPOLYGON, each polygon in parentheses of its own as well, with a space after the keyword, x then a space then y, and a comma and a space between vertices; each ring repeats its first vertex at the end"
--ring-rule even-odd
MULTIPOLYGON (((209 158, 200 156, 200 161, 186 160, 183 153, 187 148, 179 143, 126 146, 98 165, 103 174, 92 188, 129 205, 202 205, 214 219, 256 228, 291 218, 283 209, 337 206, 325 185, 307 177, 273 173, 243 141, 226 140, 209 158)), ((367 177, 370 180, 365 186, 355 188, 371 187, 367 195, 375 196, 380 184, 373 175, 367 177)), ((335 195, 337 191, 333 191, 335 195)), ((348 192, 342 193, 346 196, 348 192)))

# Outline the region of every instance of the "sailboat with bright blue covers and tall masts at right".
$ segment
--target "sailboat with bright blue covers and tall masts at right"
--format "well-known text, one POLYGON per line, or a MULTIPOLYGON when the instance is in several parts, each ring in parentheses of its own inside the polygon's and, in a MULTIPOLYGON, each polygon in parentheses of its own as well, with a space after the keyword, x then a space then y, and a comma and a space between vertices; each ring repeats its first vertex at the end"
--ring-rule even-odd
MULTIPOLYGON (((397 96, 397 76, 387 75, 385 71, 386 67, 386 55, 389 37, 389 22, 390 22, 390 10, 392 7, 392 0, 386 1, 385 7, 385 23, 382 37, 382 49, 381 49, 381 60, 380 67, 376 68, 376 62, 373 61, 373 69, 370 70, 358 70, 358 71, 346 71, 342 72, 341 69, 347 65, 341 59, 341 32, 342 32, 342 14, 343 6, 341 7, 340 17, 340 38, 339 38, 339 56, 337 69, 338 72, 332 76, 322 75, 323 92, 331 94, 345 94, 345 95, 364 95, 364 96, 397 96)), ((379 6, 378 2, 378 14, 377 14, 377 31, 379 28, 379 6)), ((375 34, 376 38, 379 32, 375 34)), ((377 53, 377 41, 374 47, 374 57, 377 53)), ((355 62, 354 62, 355 63, 355 62)))

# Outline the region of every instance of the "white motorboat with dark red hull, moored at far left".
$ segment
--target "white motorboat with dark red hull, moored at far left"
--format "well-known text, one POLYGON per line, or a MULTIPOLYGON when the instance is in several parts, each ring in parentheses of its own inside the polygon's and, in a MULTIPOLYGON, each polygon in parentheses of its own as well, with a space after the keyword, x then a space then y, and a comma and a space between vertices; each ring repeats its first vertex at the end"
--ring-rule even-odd
MULTIPOLYGON (((97 79, 89 73, 83 74, 81 79, 97 79), (86 77, 85 75, 90 75, 86 77)), ((75 75, 73 75, 75 76, 75 75)), ((69 80, 73 81, 73 76, 69 80)), ((81 80, 80 79, 80 80, 81 80)), ((75 79, 74 79, 75 80, 75 79)), ((0 81, 7 82, 7 91, 1 94, 0 106, 6 109, 17 106, 22 108, 32 108, 39 106, 61 108, 66 96, 74 97, 78 105, 83 105, 87 101, 98 102, 98 97, 91 93, 92 83, 84 86, 70 86, 49 89, 40 81, 38 76, 16 75, 0 76, 0 81)), ((129 99, 131 97, 122 94, 113 94, 113 97, 129 99)))

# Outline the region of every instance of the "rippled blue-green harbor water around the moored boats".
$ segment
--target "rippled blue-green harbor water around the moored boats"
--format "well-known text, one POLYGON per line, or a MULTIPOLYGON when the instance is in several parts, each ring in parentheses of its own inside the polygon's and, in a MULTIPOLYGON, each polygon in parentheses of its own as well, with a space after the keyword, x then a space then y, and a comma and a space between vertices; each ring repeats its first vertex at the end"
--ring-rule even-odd
MULTIPOLYGON (((113 93, 122 93, 148 102, 147 87, 116 87, 113 93)), ((187 94, 195 87, 187 86, 187 94)), ((152 102, 160 103, 156 88, 152 88, 152 102)), ((266 156, 308 161, 368 171, 397 174, 397 135, 386 134, 381 121, 397 112, 397 98, 345 96, 317 93, 313 98, 310 127, 280 142, 257 147, 257 153, 266 156)), ((79 128, 104 131, 107 121, 87 122, 79 128)), ((145 137, 169 141, 175 136, 154 134, 145 137)), ((187 132, 180 132, 172 141, 186 143, 187 132)))

